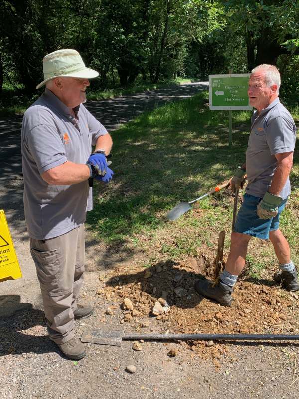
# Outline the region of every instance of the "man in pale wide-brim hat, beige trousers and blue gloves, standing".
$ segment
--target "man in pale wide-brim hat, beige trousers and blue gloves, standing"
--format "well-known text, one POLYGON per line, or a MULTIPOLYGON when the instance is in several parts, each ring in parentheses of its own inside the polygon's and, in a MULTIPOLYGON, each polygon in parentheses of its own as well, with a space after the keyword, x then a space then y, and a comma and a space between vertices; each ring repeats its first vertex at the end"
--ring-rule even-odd
POLYGON ((24 114, 21 146, 25 220, 40 283, 49 337, 71 359, 85 355, 74 319, 90 316, 78 307, 84 273, 84 222, 92 209, 90 179, 109 183, 112 139, 84 107, 89 79, 75 50, 43 59, 44 93, 24 114), (91 154, 92 145, 95 146, 91 154))

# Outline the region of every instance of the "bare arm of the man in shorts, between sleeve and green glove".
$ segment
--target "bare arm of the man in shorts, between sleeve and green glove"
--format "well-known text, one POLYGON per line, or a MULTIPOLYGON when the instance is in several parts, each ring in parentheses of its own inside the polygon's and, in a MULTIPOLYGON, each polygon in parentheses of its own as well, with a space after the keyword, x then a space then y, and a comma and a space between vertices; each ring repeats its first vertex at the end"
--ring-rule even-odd
POLYGON ((275 154, 277 159, 277 167, 273 175, 269 193, 278 196, 286 184, 293 165, 293 151, 275 154))

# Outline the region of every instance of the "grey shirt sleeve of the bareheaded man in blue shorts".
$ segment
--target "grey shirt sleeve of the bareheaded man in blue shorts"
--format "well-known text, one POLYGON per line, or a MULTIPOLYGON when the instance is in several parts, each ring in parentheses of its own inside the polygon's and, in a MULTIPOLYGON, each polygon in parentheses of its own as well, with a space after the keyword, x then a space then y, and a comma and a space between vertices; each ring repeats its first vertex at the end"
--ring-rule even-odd
POLYGON ((293 124, 283 115, 267 125, 266 139, 271 155, 294 151, 295 133, 293 124))

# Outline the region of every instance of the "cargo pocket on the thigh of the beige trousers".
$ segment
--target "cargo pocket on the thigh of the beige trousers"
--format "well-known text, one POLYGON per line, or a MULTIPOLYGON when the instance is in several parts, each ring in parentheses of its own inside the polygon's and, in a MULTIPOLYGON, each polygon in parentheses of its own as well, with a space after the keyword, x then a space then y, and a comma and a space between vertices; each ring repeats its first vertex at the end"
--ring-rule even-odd
POLYGON ((58 249, 41 251, 40 249, 31 248, 30 251, 42 288, 48 292, 52 291, 57 286, 58 280, 58 249))

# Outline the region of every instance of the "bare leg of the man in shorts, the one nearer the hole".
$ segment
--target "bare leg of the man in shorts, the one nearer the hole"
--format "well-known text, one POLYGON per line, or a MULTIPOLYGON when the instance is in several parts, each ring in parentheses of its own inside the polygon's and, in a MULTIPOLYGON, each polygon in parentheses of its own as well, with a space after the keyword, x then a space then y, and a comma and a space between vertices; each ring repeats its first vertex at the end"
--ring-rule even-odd
POLYGON ((238 276, 245 266, 250 235, 233 232, 231 234, 231 247, 228 254, 225 270, 238 276))

